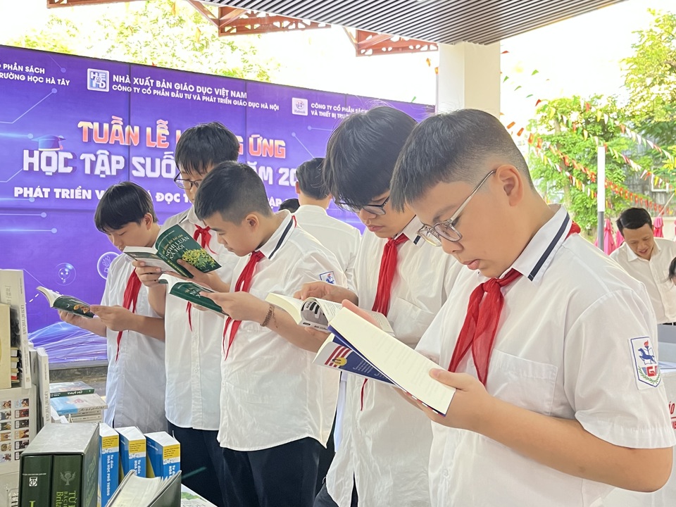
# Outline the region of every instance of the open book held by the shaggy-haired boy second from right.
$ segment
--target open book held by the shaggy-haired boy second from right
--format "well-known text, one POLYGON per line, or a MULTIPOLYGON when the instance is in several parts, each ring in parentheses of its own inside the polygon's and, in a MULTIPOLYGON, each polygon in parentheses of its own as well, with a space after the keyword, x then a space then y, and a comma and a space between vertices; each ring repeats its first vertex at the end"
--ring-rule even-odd
MULTIPOLYGON (((282 308, 282 310, 294 318, 296 324, 325 332, 329 331, 331 319, 343 308, 341 303, 334 303, 326 299, 308 298, 302 301, 301 299, 282 296, 282 294, 274 294, 273 292, 268 294, 265 301, 282 308)), ((387 322, 387 317, 382 313, 374 311, 369 311, 368 313, 376 320, 384 332, 394 334, 392 326, 387 322)))

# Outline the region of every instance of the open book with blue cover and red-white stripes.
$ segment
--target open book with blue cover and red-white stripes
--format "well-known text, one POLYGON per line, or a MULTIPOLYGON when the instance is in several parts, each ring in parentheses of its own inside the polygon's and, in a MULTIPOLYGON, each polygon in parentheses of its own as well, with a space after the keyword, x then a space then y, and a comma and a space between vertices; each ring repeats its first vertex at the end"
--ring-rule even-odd
POLYGON ((439 368, 437 363, 347 308, 330 320, 329 330, 333 334, 313 363, 392 384, 446 415, 456 389, 430 377, 430 370, 439 368))

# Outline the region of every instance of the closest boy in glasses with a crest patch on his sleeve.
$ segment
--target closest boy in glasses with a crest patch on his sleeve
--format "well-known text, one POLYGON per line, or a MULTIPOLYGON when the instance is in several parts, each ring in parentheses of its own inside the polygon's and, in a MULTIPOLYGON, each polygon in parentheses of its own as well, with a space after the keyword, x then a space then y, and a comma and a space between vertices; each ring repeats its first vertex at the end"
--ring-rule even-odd
POLYGON ((597 506, 662 487, 676 439, 646 289, 539 196, 500 121, 423 121, 392 203, 468 268, 418 345, 457 389, 445 417, 425 409, 432 505, 597 506))

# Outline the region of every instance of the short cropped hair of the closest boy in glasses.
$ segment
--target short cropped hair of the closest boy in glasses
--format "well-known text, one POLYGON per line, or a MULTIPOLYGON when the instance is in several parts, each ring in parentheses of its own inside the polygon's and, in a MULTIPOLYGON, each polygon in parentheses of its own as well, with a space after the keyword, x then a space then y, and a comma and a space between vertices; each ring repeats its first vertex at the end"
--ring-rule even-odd
POLYGON ((439 182, 480 182, 490 158, 513 165, 534 184, 528 165, 506 128, 495 116, 477 109, 434 115, 408 138, 392 176, 392 206, 403 209, 439 182))

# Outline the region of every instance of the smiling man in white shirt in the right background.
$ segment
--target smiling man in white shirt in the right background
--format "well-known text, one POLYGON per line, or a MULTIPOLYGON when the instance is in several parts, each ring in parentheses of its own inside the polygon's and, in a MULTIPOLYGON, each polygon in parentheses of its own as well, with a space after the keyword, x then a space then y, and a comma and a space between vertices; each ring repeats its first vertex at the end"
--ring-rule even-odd
POLYGON ((657 323, 676 323, 676 286, 669 279, 669 265, 676 258, 676 243, 655 237, 650 213, 643 208, 622 211, 618 230, 625 242, 611 253, 611 258, 644 283, 657 323))

